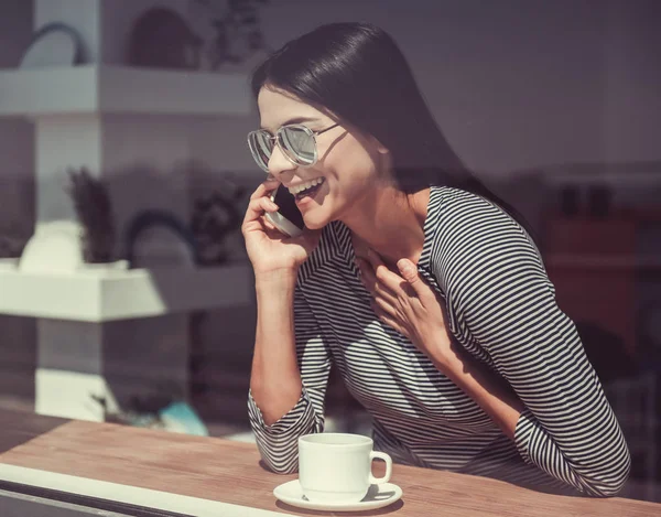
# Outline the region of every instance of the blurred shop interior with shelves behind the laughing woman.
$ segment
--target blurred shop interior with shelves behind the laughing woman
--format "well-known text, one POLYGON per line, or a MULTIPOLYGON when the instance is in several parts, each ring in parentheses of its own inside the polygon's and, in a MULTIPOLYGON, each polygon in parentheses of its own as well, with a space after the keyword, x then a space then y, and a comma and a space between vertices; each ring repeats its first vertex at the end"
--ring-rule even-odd
POLYGON ((657 0, 0 0, 0 409, 252 439, 249 74, 333 21, 394 36, 527 217, 661 500, 657 0))

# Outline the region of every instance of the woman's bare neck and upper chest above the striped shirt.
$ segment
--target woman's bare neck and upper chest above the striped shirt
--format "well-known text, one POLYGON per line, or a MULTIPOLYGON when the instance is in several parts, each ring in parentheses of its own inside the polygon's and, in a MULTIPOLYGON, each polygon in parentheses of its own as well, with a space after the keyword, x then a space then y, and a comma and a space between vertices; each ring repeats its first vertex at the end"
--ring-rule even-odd
POLYGON ((369 247, 389 266, 402 258, 418 263, 427 201, 429 190, 407 194, 388 185, 371 191, 340 218, 354 235, 356 255, 362 256, 362 248, 369 247))

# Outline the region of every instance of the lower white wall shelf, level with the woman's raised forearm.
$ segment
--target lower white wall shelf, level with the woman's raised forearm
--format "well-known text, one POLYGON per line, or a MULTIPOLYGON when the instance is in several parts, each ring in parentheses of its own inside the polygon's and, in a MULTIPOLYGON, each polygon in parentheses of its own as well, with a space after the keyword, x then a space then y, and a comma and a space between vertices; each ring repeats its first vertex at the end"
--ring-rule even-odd
POLYGON ((0 314, 104 322, 223 306, 252 297, 249 265, 46 274, 0 270, 0 314))

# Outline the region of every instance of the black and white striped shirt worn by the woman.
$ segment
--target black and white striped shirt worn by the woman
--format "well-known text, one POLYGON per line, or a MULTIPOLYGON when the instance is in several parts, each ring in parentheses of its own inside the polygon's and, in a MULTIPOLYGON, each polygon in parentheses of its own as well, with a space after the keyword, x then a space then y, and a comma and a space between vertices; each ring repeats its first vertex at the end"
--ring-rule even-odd
POLYGON ((301 267, 294 297, 303 390, 267 426, 248 410, 262 459, 297 468, 297 438, 324 429, 334 365, 370 413, 375 449, 393 461, 501 478, 552 492, 616 494, 627 444, 573 322, 555 303, 538 249, 508 214, 475 194, 434 186, 420 274, 444 300, 453 337, 497 371, 525 409, 510 440, 407 337, 370 309, 350 230, 334 222, 301 267))

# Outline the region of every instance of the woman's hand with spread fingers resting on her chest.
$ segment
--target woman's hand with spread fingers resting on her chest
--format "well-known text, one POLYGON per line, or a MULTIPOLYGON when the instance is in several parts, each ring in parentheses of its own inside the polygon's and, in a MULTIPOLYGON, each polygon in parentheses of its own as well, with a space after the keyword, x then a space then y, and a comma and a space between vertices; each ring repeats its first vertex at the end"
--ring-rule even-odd
POLYGON ((452 340, 436 292, 408 259, 398 261, 399 274, 368 250, 367 260, 357 259, 365 288, 372 295, 372 309, 387 325, 407 336, 430 358, 444 363, 449 358, 452 340))

